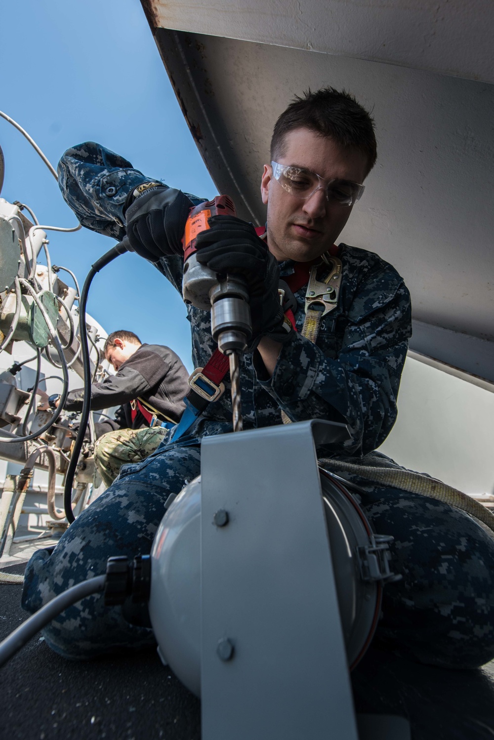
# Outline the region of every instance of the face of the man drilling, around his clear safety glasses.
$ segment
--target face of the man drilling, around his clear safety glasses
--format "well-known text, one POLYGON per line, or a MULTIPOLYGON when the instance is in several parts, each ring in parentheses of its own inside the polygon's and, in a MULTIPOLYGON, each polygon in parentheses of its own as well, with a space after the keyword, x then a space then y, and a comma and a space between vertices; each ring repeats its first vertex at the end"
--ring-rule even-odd
MULTIPOLYGON (((362 184, 367 159, 361 152, 346 151, 331 138, 311 129, 294 129, 285 136, 280 164, 293 164, 317 172, 325 180, 339 178, 362 184)), ((286 192, 265 164, 261 181, 263 203, 268 204, 268 247, 282 260, 309 262, 334 244, 348 221, 352 206, 328 201, 324 188, 302 200, 286 192)))

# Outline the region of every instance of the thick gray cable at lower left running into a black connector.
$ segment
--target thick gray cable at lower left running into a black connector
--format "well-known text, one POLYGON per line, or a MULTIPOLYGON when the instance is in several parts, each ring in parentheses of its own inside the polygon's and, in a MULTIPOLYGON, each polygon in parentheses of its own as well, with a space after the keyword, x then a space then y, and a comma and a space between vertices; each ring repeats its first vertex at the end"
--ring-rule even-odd
POLYGON ((105 581, 106 576, 96 576, 88 581, 78 583, 72 588, 67 588, 67 591, 59 593, 58 596, 55 596, 55 599, 41 607, 29 619, 26 619, 13 633, 0 642, 0 667, 64 609, 81 601, 81 599, 85 599, 86 596, 91 596, 92 593, 104 591, 105 581))

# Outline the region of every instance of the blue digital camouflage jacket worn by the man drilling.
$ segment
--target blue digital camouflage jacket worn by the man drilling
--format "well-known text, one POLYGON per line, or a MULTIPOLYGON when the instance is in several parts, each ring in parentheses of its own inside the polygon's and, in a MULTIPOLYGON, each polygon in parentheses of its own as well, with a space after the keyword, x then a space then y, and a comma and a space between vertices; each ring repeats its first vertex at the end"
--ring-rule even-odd
MULTIPOLYGON (((120 240, 125 235, 126 197, 146 177, 129 161, 94 142, 68 149, 58 165, 65 200, 83 226, 120 240)), ((192 203, 205 198, 187 194, 192 203)), ((282 346, 271 378, 257 353, 241 360, 244 428, 293 421, 329 419, 348 425, 351 439, 326 448, 325 455, 361 455, 379 447, 396 420, 396 397, 411 336, 410 294, 402 277, 373 252, 339 245, 342 288, 339 305, 321 323, 317 343, 300 334, 305 318, 305 287, 295 312, 297 333, 282 346)), ((155 264, 155 263, 153 263, 155 264)), ((155 266, 182 289, 183 259, 160 258, 155 266)), ((281 266, 293 272, 293 263, 281 266)), ((216 345, 209 312, 188 306, 194 367, 205 366, 216 345)), ((210 403, 194 428, 195 437, 231 431, 229 383, 210 403)))

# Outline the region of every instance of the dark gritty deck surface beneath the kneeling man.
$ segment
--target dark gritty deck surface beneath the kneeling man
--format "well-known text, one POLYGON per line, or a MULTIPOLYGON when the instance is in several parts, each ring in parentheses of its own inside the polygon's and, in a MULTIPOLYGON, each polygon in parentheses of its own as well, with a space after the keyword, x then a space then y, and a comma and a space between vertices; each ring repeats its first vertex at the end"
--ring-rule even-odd
MULTIPOLYGON (((22 573, 24 565, 2 570, 22 573)), ((0 584, 0 639, 27 616, 20 593, 20 585, 0 584)), ((494 663, 440 670, 371 647, 353 672, 353 690, 357 711, 407 717, 413 740, 494 737, 494 663)), ((0 738, 195 740, 200 702, 155 650, 74 663, 35 638, 0 669, 0 738)))

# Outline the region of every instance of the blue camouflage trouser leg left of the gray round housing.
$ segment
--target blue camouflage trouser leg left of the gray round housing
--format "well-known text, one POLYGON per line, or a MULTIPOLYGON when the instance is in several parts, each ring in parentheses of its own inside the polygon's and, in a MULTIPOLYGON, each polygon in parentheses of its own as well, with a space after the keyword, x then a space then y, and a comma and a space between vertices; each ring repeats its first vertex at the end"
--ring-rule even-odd
MULTIPOLYGON (((81 512, 53 551, 33 554, 24 574, 24 609, 35 612, 66 588, 102 575, 111 556, 149 554, 169 494, 178 494, 200 473, 199 443, 164 449, 123 465, 117 480, 81 512)), ((56 653, 72 659, 153 642, 152 630, 129 625, 121 607, 105 607, 99 595, 66 609, 43 635, 56 653)))

